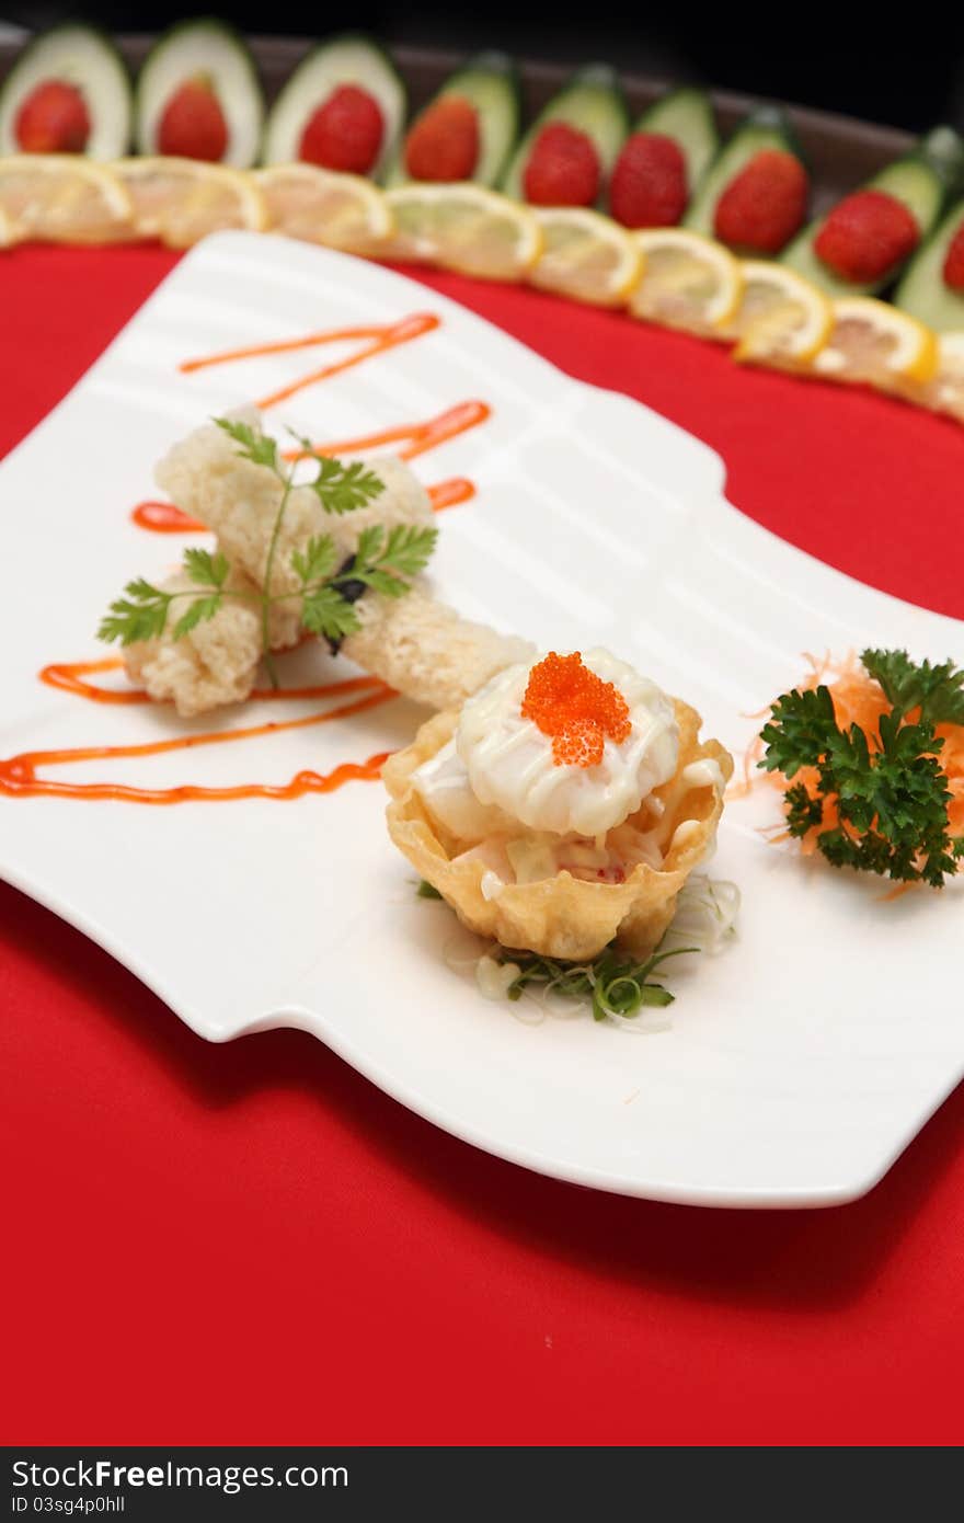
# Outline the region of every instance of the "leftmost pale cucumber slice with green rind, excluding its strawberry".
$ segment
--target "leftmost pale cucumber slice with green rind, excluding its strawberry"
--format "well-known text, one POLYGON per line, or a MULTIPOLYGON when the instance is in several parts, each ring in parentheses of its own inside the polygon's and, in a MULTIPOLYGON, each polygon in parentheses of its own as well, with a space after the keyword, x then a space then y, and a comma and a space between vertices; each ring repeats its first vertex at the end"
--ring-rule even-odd
POLYGON ((0 154, 20 154, 20 108, 44 84, 72 85, 84 99, 88 158, 122 158, 131 142, 131 79, 104 32, 65 23, 32 38, 0 88, 0 154))

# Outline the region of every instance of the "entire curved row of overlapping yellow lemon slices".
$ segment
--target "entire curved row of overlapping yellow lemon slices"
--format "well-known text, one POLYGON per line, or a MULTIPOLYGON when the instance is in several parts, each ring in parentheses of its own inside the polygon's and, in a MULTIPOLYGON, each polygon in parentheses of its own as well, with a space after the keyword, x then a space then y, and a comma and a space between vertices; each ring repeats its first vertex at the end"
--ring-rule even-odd
POLYGON ((731 343, 739 361, 868 382, 964 422, 964 335, 938 341, 885 302, 832 300, 783 265, 737 259, 685 228, 630 233, 599 212, 521 206, 477 184, 382 192, 312 164, 241 172, 180 158, 0 158, 0 247, 160 238, 186 248, 224 227, 525 280, 731 343))

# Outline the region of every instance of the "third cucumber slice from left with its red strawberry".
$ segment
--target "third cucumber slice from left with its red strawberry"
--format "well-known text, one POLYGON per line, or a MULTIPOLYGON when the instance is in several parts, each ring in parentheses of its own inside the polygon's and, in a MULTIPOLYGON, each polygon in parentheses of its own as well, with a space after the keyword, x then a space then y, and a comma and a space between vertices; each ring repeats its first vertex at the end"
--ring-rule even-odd
POLYGON ((265 163, 384 177, 405 122, 405 85, 367 37, 337 37, 302 59, 265 128, 265 163))

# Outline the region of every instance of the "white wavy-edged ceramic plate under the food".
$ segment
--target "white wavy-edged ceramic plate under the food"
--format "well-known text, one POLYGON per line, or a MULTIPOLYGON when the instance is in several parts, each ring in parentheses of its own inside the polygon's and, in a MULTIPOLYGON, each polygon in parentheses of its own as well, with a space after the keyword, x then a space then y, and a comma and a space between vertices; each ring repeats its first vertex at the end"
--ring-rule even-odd
MULTIPOLYGON (((376 265, 224 233, 178 265, 0 468, 0 757, 184 731, 166 710, 90 704, 37 681, 47 663, 102 655, 93 631, 110 599, 180 556, 180 541, 129 521, 155 495, 151 468, 166 446, 321 362, 321 350, 193 375, 178 361, 425 311, 442 320, 434 332, 271 416, 332 440, 461 401, 492 407, 489 422, 416 461, 426 481, 463 475, 478 489, 440 519, 436 562, 439 591, 466 615, 541 646, 611 646, 693 702, 734 752, 757 728, 742 716, 801 676, 801 652, 870 643, 964 655, 962 624, 851 582, 743 518, 722 495, 719 457, 637 402, 571 381, 376 265)), ((341 675, 320 649, 295 666, 341 675)), ((291 704, 286 717, 312 707, 291 704)), ((215 723, 267 717, 277 705, 215 723)), ((419 717, 393 702, 318 730, 59 775, 283 783, 404 743, 419 717)), ((728 807, 713 868, 743 891, 739 943, 673 975, 672 1030, 659 1036, 588 1016, 527 1027, 481 999, 446 967, 451 918, 414 897, 382 807, 372 783, 297 803, 168 809, 0 797, 0 871, 203 1036, 305 1027, 449 1132, 605 1189, 702 1205, 848 1200, 962 1072, 958 1002, 923 991, 959 973, 964 883, 882 905, 879 885, 764 844, 757 827, 778 813, 768 789, 728 807)))

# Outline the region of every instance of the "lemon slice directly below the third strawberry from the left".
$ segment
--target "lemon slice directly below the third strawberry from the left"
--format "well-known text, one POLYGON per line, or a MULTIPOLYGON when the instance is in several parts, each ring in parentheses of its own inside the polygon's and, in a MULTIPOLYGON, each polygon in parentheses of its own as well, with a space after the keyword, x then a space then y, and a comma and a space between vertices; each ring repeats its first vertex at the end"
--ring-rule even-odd
POLYGON ((268 227, 288 238, 373 254, 394 228, 385 196, 361 175, 317 164, 271 164, 256 169, 253 180, 265 198, 268 227))

